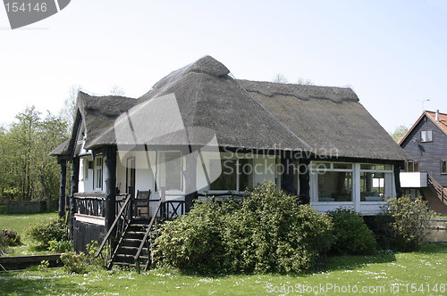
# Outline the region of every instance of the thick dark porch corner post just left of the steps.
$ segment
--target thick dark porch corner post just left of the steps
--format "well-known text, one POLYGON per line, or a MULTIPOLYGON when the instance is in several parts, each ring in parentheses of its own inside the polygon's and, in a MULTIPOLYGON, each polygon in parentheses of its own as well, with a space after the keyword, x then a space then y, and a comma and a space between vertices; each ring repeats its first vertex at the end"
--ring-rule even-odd
POLYGON ((116 201, 116 149, 107 146, 105 155, 105 227, 106 231, 114 224, 116 201))

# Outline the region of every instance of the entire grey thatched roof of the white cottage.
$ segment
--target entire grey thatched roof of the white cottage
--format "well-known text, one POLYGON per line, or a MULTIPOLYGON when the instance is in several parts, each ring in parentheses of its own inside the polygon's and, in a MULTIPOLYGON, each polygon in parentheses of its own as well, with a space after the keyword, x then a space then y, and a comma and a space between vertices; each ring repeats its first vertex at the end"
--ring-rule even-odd
POLYGON ((139 99, 80 93, 85 148, 207 144, 215 135, 220 147, 335 148, 343 157, 407 158, 350 88, 236 80, 229 73, 207 56, 173 71, 139 99))

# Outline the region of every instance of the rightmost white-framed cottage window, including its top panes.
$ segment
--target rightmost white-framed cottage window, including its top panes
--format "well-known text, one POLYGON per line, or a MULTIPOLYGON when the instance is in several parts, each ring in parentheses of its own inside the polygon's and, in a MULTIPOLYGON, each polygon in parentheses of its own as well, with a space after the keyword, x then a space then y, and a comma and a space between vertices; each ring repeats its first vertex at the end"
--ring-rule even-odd
POLYGON ((391 195, 391 165, 360 165, 360 201, 384 201, 391 195))

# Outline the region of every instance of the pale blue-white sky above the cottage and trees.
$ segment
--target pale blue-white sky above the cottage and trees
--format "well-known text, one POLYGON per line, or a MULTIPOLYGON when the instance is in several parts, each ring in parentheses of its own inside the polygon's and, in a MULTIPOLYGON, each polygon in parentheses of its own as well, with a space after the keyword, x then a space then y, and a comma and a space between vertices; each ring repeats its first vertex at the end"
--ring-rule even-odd
POLYGON ((57 112, 72 85, 138 97, 209 54, 236 78, 350 86, 392 131, 447 112, 447 2, 87 1, 23 29, 0 7, 0 122, 57 112))

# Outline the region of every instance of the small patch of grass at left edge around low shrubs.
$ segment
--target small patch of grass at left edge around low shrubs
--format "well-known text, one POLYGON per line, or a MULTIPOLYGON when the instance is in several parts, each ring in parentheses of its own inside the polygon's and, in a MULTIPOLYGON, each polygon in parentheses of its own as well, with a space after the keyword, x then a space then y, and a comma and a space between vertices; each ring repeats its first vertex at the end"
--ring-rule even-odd
POLYGON ((21 235, 21 245, 9 247, 6 256, 37 255, 50 253, 39 248, 38 244, 26 235, 26 228, 47 218, 56 218, 57 212, 39 214, 3 214, 0 215, 0 228, 15 230, 21 235))

